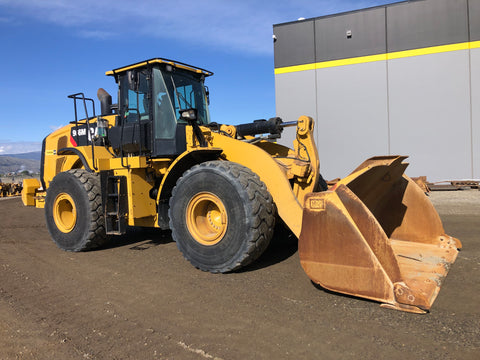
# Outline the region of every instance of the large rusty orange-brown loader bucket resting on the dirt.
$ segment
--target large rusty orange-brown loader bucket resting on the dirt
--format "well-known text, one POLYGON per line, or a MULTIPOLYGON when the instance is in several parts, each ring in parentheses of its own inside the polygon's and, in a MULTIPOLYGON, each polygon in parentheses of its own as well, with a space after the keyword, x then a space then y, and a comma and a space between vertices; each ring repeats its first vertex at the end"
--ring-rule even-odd
POLYGON ((298 248, 323 288, 425 313, 461 243, 403 174, 405 158, 368 159, 330 190, 307 194, 298 248))

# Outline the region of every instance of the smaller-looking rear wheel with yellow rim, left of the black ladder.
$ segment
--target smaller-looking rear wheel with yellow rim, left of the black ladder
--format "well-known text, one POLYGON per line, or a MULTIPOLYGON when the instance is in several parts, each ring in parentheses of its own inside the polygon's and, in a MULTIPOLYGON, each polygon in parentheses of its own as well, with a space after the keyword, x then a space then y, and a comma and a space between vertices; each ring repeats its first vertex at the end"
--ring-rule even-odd
POLYGON ((57 174, 47 190, 45 219, 57 246, 85 251, 105 243, 100 178, 83 169, 57 174))

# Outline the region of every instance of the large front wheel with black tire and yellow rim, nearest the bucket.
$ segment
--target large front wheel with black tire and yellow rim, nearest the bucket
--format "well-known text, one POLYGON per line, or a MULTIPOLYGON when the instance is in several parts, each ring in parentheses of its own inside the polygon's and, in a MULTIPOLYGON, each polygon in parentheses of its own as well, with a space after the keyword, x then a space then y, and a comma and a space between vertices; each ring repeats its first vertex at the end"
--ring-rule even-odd
POLYGON ((250 169, 228 161, 192 167, 170 198, 172 237, 193 266, 213 273, 237 270, 267 248, 275 205, 250 169))

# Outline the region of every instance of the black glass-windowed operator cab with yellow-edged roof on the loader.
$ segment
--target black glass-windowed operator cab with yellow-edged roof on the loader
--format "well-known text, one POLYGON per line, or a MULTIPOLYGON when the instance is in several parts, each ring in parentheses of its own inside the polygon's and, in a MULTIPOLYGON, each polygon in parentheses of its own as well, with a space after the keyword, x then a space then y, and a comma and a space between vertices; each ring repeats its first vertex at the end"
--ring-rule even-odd
MULTIPOLYGON (((106 75, 114 76, 119 86, 118 116, 108 130, 110 144, 119 156, 183 153, 187 121, 181 113, 185 110, 194 111, 199 125, 210 123, 204 81, 212 72, 156 58, 106 75)), ((102 113, 104 108, 108 107, 102 106, 102 113)))

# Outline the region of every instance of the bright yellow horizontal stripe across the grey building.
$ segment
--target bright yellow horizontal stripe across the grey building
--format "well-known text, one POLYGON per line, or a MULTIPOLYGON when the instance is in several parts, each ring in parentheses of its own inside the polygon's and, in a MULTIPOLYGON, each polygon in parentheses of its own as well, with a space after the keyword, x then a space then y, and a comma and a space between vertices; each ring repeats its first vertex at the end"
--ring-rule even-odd
POLYGON ((337 66, 345 66, 345 65, 365 64, 365 63, 375 62, 375 61, 402 59, 402 58, 408 58, 408 57, 414 57, 414 56, 439 54, 439 53, 446 53, 451 51, 477 49, 477 48, 480 48, 480 41, 431 46, 426 48, 396 51, 396 52, 378 54, 378 55, 358 56, 354 58, 322 61, 322 62, 305 64, 305 65, 286 66, 286 67, 276 68, 275 75, 306 71, 306 70, 324 69, 329 67, 337 67, 337 66))

